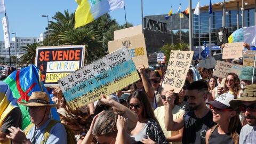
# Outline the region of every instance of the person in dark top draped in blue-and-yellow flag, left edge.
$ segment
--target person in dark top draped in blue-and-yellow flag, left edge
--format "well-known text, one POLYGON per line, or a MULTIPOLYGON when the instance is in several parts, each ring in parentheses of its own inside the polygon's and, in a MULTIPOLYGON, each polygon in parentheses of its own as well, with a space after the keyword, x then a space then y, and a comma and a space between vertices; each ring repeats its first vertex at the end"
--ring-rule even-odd
POLYGON ((9 127, 22 126, 22 114, 17 99, 13 98, 9 86, 0 81, 0 143, 11 143, 6 135, 10 134, 9 127))

